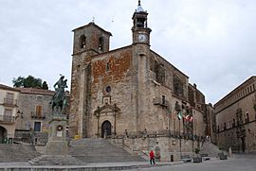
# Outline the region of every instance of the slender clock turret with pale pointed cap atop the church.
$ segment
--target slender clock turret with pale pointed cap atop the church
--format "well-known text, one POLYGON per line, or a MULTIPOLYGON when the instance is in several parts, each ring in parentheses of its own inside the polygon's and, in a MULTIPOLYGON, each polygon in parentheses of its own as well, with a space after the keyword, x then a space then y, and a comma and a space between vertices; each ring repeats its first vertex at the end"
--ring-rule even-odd
POLYGON ((146 43, 150 45, 150 32, 151 29, 147 23, 148 13, 142 9, 140 0, 138 0, 137 9, 133 15, 134 26, 133 31, 133 43, 146 43))

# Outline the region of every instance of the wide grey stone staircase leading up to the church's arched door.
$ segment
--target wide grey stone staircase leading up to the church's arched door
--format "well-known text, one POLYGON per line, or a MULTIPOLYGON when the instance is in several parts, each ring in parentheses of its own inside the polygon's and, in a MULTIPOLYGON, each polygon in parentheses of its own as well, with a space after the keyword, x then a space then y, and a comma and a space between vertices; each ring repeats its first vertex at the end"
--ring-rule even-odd
POLYGON ((145 162, 141 157, 132 155, 104 139, 72 140, 69 155, 81 162, 145 162))

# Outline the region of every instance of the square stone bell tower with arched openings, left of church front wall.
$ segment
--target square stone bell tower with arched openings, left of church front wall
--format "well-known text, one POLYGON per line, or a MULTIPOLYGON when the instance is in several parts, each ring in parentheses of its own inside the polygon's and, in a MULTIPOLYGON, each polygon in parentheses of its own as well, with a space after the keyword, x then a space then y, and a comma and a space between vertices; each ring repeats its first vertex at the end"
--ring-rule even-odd
POLYGON ((109 51, 111 33, 94 22, 73 30, 69 133, 87 137, 91 99, 91 60, 109 51))

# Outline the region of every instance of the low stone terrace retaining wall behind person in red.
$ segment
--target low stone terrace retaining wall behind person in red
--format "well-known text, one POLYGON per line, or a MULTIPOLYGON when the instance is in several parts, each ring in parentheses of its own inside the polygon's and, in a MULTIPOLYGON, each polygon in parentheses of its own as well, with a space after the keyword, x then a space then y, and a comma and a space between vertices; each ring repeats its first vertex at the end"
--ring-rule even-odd
MULTIPOLYGON (((194 156, 194 148, 203 145, 206 140, 205 137, 189 137, 179 132, 162 130, 157 132, 141 132, 133 133, 127 132, 123 136, 116 136, 110 139, 115 145, 120 145, 127 151, 140 155, 144 159, 149 158, 149 151, 159 150, 160 158, 156 160, 161 162, 170 162, 171 155, 174 156, 174 161, 179 160, 181 156, 190 155, 194 156)), ((156 155, 157 156, 157 155, 156 155)))

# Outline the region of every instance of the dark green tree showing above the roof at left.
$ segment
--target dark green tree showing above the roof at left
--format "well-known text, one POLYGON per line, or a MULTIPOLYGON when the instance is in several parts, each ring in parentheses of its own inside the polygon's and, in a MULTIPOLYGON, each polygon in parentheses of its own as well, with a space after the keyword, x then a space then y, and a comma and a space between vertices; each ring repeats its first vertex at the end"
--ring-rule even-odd
POLYGON ((17 77, 12 79, 13 87, 24 87, 24 88, 38 88, 48 90, 48 85, 46 81, 42 83, 41 78, 36 78, 32 76, 28 77, 17 77))

